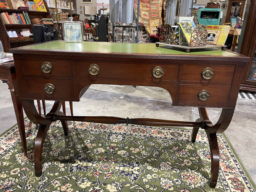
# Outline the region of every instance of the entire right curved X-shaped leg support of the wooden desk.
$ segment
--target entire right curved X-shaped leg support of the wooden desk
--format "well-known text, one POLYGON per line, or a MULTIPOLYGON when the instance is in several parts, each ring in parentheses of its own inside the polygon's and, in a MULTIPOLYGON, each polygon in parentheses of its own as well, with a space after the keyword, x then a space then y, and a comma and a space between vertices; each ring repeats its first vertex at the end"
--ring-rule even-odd
MULTIPOLYGON (((202 128, 206 130, 206 134, 210 145, 210 157, 211 157, 211 174, 210 174, 210 187, 215 188, 218 180, 218 170, 220 166, 220 154, 218 150, 217 133, 222 133, 231 122, 234 114, 234 108, 222 109, 220 118, 215 125, 209 120, 206 108, 198 108, 200 118, 196 122, 202 122, 202 128)), ((198 134, 199 127, 193 127, 191 140, 194 143, 196 141, 196 135, 198 134)))

